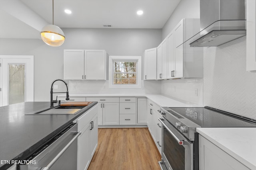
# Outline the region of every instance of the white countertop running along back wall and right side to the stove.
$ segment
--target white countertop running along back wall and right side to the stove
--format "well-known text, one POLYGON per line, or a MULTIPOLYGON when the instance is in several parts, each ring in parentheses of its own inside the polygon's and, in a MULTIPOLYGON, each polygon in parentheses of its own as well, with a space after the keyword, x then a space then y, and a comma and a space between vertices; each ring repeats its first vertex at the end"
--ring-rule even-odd
MULTIPOLYGON (((60 95, 62 97, 66 95, 60 95)), ((161 107, 202 107, 190 102, 176 100, 160 94, 70 94, 70 97, 146 97, 161 107)))

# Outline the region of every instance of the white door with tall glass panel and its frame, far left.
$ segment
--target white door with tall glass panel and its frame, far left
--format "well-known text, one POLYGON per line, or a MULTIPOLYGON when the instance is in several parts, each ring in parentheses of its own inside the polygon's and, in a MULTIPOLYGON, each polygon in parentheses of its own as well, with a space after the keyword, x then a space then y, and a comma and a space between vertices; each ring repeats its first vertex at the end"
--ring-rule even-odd
POLYGON ((0 55, 0 106, 34 101, 34 57, 0 55), (1 63, 2 62, 2 63, 1 63))

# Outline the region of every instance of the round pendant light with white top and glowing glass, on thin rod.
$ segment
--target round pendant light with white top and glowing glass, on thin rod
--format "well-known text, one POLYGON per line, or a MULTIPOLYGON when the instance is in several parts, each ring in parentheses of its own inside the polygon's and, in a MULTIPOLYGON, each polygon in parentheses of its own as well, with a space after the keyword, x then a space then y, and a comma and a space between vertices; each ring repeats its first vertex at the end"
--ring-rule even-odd
POLYGON ((42 40, 52 47, 59 47, 64 43, 65 35, 60 27, 54 25, 54 11, 53 11, 53 0, 52 0, 52 24, 45 25, 41 31, 42 40))

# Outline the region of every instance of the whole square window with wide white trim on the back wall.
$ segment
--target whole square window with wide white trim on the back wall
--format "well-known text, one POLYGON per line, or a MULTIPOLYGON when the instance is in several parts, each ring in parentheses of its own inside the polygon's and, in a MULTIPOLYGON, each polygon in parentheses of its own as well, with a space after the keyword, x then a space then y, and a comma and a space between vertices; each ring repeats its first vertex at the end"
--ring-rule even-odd
POLYGON ((110 88, 141 88, 141 56, 109 56, 110 88))

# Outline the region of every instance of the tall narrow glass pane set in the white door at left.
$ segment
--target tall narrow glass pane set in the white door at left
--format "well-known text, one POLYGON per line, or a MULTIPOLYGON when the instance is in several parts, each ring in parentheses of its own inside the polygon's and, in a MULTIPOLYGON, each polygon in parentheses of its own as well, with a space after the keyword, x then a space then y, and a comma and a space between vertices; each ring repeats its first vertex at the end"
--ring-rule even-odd
POLYGON ((9 104, 25 102, 25 64, 9 64, 9 104))

